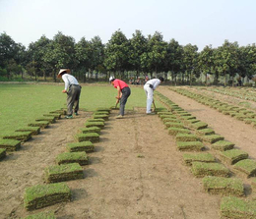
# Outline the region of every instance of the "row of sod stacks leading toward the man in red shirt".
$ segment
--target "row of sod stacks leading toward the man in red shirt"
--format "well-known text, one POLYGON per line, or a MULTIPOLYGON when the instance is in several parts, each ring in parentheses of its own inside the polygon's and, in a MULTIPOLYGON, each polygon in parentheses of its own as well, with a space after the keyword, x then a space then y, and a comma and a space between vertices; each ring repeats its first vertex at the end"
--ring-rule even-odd
MULTIPOLYGON (((78 131, 74 137, 74 142, 67 143, 67 152, 57 155, 56 165, 44 169, 44 185, 36 185, 28 188, 25 193, 25 208, 34 210, 59 202, 71 201, 72 191, 65 181, 84 179, 84 168, 82 166, 90 164, 88 153, 95 151, 95 143, 99 141, 101 129, 104 128, 105 121, 108 120, 110 110, 98 108, 93 114, 93 118, 87 119, 85 127, 78 131), (101 115, 102 117, 98 117, 101 115)), ((54 213, 40 212, 34 214, 35 218, 41 215, 50 215, 55 218, 54 213)), ((31 217, 29 216, 28 219, 31 217)))

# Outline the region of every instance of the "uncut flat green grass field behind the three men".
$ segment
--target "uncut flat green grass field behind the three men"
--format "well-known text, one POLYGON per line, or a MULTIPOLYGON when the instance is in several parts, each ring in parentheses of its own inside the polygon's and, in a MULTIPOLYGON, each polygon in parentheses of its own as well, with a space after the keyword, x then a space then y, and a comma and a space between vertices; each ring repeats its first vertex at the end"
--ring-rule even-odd
MULTIPOLYGON (((66 107, 66 94, 61 92, 63 88, 64 83, 0 84, 0 137, 27 127, 43 114, 66 107)), ((131 91, 126 109, 146 107, 143 86, 131 87, 131 91)), ((116 93, 117 90, 108 83, 83 85, 80 108, 94 111, 97 107, 114 106, 116 93)), ((157 101, 156 105, 162 107, 157 101)))

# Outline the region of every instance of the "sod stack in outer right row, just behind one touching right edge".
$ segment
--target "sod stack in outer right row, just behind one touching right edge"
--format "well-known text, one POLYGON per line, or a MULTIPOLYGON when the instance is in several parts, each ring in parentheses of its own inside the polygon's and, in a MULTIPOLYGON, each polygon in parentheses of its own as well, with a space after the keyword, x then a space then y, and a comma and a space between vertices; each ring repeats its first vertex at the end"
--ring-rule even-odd
POLYGON ((239 149, 230 149, 220 152, 221 160, 227 164, 234 164, 240 160, 247 159, 248 153, 239 149))

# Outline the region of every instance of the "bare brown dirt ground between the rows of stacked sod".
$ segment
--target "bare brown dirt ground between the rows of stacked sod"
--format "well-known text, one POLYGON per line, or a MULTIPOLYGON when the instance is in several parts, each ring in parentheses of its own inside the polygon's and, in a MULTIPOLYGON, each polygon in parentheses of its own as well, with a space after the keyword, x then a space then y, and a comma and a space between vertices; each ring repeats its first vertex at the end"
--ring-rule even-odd
MULTIPOLYGON (((166 86, 158 90, 256 157, 256 129, 166 86)), ((222 197, 203 191, 202 179, 195 178, 183 164, 183 152, 177 151, 174 137, 167 134, 160 118, 146 115, 142 108, 127 111, 121 120, 115 119, 117 113, 111 112, 100 141, 95 143, 96 151, 89 154, 90 165, 83 166, 85 178, 67 182, 71 202, 32 212, 23 205, 25 189, 44 183, 44 168, 55 164, 56 156, 66 151, 66 144, 74 141, 92 113, 81 111, 72 120, 60 119, 25 142, 22 149, 9 153, 0 162, 0 218, 48 210, 58 219, 220 218, 222 197)))

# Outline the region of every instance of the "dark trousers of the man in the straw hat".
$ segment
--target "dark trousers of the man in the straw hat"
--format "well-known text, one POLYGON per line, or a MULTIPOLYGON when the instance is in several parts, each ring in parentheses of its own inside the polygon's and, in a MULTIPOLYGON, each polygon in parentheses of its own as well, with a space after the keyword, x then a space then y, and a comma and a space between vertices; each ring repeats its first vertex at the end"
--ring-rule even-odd
POLYGON ((79 110, 79 98, 81 93, 80 85, 71 85, 69 91, 67 92, 67 115, 70 116, 73 114, 73 106, 75 113, 79 110))

